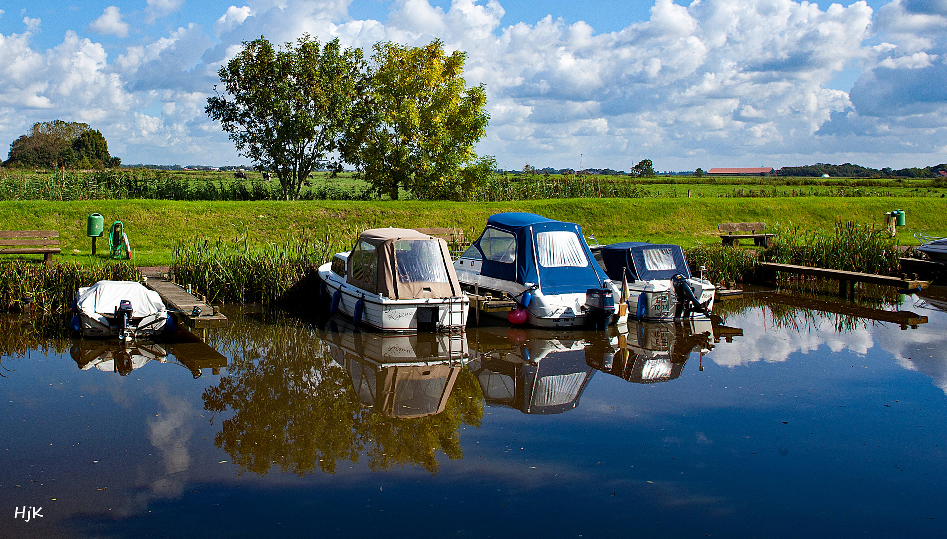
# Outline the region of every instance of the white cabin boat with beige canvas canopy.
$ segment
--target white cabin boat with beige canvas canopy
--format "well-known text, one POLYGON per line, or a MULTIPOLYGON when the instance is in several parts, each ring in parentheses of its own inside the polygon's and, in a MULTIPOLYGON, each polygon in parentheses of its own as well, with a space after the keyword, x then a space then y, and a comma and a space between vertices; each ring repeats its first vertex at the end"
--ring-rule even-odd
POLYGON ((319 267, 330 314, 383 332, 462 330, 470 299, 447 242, 410 228, 372 228, 319 267))

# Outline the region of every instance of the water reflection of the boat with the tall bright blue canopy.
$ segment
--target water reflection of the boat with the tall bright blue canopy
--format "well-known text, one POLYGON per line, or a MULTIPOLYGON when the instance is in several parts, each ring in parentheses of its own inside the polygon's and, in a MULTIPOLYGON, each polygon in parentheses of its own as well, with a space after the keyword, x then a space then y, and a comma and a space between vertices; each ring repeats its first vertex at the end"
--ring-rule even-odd
POLYGON ((559 414, 579 405, 595 372, 585 359, 587 337, 601 335, 507 328, 471 333, 471 368, 484 399, 525 414, 559 414))

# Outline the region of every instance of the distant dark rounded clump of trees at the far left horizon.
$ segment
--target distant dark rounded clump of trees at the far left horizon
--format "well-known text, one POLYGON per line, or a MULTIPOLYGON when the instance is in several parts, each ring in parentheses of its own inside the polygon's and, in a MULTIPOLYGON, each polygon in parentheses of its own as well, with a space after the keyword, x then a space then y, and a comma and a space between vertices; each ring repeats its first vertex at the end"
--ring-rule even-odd
POLYGON ((36 122, 29 134, 9 145, 4 166, 45 169, 105 169, 121 159, 109 154, 109 143, 98 130, 76 121, 36 122))

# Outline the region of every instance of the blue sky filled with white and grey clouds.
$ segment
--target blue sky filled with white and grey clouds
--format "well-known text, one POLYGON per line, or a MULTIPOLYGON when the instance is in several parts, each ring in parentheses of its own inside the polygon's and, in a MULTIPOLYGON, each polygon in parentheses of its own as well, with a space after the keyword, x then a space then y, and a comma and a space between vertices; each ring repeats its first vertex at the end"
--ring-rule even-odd
POLYGON ((126 163, 241 161, 203 108, 241 40, 468 51, 508 169, 947 161, 947 0, 31 2, 0 7, 0 140, 86 121, 126 163), (549 18, 546 18, 549 16, 549 18))

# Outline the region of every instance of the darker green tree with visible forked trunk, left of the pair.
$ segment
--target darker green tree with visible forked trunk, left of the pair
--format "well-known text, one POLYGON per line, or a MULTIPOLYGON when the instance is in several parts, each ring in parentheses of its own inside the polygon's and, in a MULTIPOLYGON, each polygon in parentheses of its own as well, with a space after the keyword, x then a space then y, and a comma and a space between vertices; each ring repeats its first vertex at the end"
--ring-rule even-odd
POLYGON ((286 200, 299 198, 311 171, 339 166, 331 154, 352 121, 365 67, 361 49, 338 39, 321 45, 304 35, 277 50, 260 37, 218 71, 224 92, 207 99, 205 112, 238 153, 276 172, 286 200))

